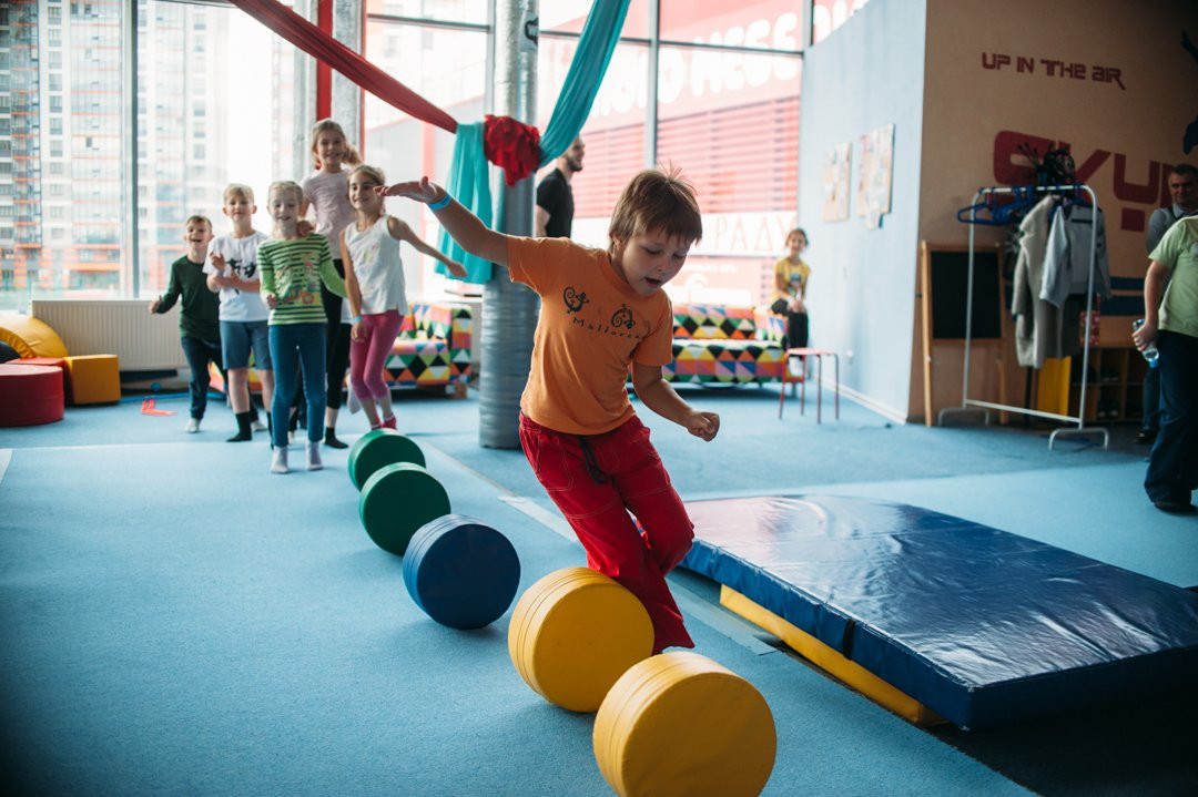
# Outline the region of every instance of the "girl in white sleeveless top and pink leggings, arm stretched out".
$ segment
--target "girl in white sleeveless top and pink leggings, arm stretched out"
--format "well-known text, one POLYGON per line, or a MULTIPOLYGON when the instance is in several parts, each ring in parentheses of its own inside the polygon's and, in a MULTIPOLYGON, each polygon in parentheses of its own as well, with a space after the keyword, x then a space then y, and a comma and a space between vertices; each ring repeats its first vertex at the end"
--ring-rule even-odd
POLYGON ((454 276, 466 268, 428 245, 400 219, 387 215, 383 197, 375 189, 387 184, 381 169, 361 165, 350 172, 350 205, 357 219, 341 233, 345 264, 345 298, 353 316, 350 331, 350 389, 370 421, 370 428, 395 428, 391 389, 383 379, 383 363, 407 315, 404 264, 399 243, 446 264, 454 276), (382 406, 382 418, 377 404, 382 406))

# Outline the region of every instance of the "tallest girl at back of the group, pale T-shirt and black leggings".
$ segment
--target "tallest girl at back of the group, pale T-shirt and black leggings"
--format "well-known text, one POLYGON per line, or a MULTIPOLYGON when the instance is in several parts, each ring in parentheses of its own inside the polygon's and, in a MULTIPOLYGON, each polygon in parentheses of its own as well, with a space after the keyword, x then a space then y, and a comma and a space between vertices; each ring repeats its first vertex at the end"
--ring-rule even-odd
MULTIPOLYGON (((341 261, 337 260, 340 247, 337 237, 345 225, 353 220, 353 207, 349 197, 349 176, 346 165, 362 163, 358 151, 345 140, 345 130, 331 118, 322 118, 311 128, 311 154, 316 171, 303 178, 303 203, 300 207, 301 218, 311 207, 316 212, 316 232, 328 238, 328 248, 333 253, 333 267, 338 275, 345 276, 341 261)), ((345 443, 337 439, 337 415, 341 408, 341 390, 345 387, 345 369, 350 358, 350 314, 341 298, 327 288, 321 288, 321 300, 325 305, 325 318, 328 321, 328 337, 325 347, 325 376, 327 395, 325 398, 325 445, 344 449, 345 443)), ((301 395, 296 391, 296 395, 301 395)), ((303 413, 298 413, 303 416, 303 413)))

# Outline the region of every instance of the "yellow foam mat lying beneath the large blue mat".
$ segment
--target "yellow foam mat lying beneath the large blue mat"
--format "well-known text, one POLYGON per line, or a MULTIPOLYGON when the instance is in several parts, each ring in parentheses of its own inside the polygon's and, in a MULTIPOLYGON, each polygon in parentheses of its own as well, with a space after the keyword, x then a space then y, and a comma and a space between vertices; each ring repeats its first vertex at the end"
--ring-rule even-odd
POLYGON ((843 681, 903 719, 918 725, 936 725, 944 722, 944 718, 920 701, 900 692, 860 664, 845 658, 798 626, 754 603, 740 592, 721 586, 720 606, 764 628, 819 669, 843 681))

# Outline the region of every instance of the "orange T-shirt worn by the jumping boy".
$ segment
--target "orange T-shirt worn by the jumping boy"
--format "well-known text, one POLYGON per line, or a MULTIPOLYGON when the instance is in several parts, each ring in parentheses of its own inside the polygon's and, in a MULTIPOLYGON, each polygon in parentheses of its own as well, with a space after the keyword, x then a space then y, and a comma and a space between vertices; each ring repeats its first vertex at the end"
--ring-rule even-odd
POLYGON ((662 291, 639 296, 607 253, 567 238, 510 238, 513 282, 540 296, 524 414, 567 434, 603 434, 633 416, 631 363, 673 359, 673 308, 662 291))

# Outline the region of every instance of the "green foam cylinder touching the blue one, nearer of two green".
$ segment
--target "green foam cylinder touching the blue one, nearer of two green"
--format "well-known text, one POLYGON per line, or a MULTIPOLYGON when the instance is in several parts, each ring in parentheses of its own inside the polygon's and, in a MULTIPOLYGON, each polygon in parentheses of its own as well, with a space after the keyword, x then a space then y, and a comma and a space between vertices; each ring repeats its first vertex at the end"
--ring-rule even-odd
POLYGON ((358 517, 375 544, 403 556, 422 525, 449 513, 449 495, 428 470, 411 462, 385 466, 362 486, 358 517))

